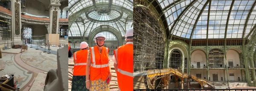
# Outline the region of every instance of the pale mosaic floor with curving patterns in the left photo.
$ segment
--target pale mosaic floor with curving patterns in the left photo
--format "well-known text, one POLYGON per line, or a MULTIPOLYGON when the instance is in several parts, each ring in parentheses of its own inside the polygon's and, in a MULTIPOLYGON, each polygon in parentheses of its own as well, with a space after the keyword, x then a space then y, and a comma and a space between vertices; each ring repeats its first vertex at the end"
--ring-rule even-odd
MULTIPOLYGON (((0 59, 0 76, 4 74, 14 74, 14 81, 18 81, 17 87, 21 91, 32 90, 32 84, 37 83, 39 73, 48 72, 49 69, 57 69, 57 55, 47 54, 35 48, 19 54, 3 53, 3 58, 0 59)), ((40 75, 41 76, 41 75, 40 75)), ((44 81, 41 80, 41 86, 44 86, 44 81)))

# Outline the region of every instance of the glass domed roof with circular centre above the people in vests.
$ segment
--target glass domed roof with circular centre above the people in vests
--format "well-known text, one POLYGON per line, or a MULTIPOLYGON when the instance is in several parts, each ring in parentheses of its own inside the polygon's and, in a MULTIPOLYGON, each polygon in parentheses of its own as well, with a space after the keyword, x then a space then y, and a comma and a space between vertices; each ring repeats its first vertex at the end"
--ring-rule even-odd
POLYGON ((69 32, 69 35, 87 37, 93 30, 108 26, 125 36, 126 30, 133 25, 132 2, 131 0, 69 0, 69 16, 79 16, 71 25, 72 34, 69 32))

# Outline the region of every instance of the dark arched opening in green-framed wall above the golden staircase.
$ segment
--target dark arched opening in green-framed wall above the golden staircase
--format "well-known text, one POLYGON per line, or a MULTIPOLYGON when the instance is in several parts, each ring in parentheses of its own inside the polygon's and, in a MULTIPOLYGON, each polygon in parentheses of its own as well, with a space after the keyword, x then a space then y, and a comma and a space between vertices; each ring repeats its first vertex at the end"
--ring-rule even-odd
POLYGON ((179 50, 172 50, 170 55, 169 67, 173 69, 178 69, 181 65, 182 55, 179 50))

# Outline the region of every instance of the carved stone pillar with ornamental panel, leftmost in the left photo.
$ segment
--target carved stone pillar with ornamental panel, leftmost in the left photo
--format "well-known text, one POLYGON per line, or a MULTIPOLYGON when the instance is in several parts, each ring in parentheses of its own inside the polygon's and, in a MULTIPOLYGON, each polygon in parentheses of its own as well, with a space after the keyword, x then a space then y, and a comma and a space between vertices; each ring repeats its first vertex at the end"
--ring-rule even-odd
POLYGON ((12 0, 12 45, 22 44, 20 3, 20 0, 12 0))

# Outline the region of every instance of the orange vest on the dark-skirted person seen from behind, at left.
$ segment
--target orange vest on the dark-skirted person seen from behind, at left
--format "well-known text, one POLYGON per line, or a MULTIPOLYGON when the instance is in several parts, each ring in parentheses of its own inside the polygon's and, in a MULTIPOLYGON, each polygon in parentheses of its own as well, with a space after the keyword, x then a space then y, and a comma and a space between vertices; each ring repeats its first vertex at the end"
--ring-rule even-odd
POLYGON ((73 75, 86 75, 86 63, 87 63, 87 55, 89 53, 89 50, 79 50, 74 53, 74 70, 73 75))

